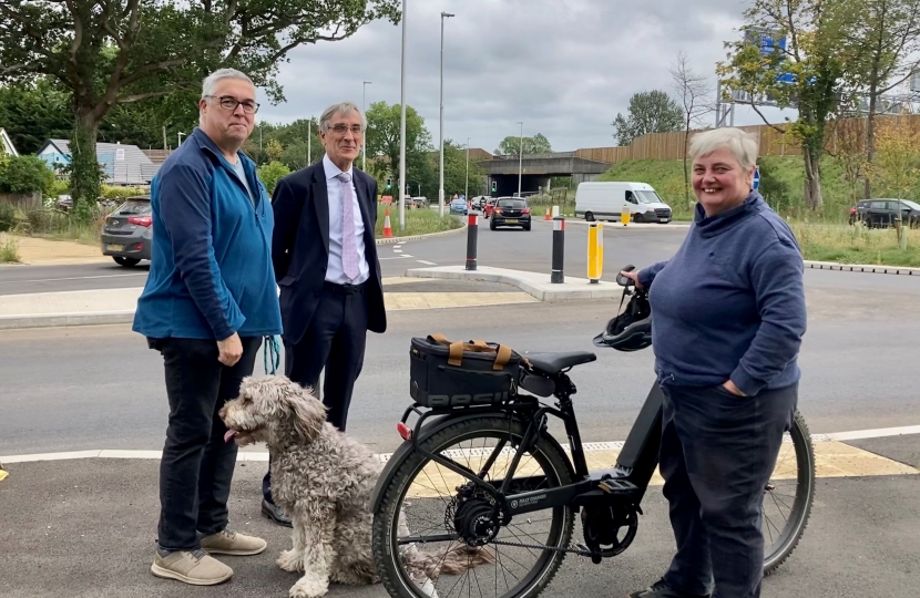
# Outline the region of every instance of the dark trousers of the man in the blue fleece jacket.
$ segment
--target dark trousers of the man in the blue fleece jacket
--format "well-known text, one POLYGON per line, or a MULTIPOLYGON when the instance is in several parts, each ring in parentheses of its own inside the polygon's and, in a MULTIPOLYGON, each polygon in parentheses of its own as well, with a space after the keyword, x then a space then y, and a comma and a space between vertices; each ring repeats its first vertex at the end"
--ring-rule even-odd
POLYGON ((244 337, 243 357, 232 368, 217 361, 217 343, 200 339, 156 339, 163 354, 170 423, 160 462, 159 544, 166 550, 201 547, 227 525, 227 498, 236 464, 236 443, 217 411, 236 398, 253 373, 260 337, 244 337))

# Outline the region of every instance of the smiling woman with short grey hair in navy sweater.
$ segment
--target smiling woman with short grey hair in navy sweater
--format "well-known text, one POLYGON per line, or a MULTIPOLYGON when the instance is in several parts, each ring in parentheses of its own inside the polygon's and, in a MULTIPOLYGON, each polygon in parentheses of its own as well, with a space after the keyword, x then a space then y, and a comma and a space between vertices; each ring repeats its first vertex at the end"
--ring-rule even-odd
POLYGON ((689 146, 694 223, 677 254, 638 272, 665 395, 661 473, 677 554, 632 598, 760 595, 760 505, 798 400, 806 327, 793 231, 752 190, 757 141, 738 128, 689 146))

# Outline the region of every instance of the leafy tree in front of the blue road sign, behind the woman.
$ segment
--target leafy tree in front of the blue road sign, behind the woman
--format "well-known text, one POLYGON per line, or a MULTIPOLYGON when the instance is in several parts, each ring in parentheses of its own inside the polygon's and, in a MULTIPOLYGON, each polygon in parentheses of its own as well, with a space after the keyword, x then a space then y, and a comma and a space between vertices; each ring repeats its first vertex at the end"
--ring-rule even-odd
POLYGON ((745 11, 750 34, 728 42, 728 61, 719 64, 724 89, 747 92, 765 123, 757 99, 768 96, 780 107, 795 107, 798 118, 786 126, 801 144, 805 202, 821 207, 821 156, 828 123, 837 115, 844 85, 846 51, 841 35, 855 17, 849 0, 754 0, 745 11), (773 50, 761 32, 774 40, 773 50), (785 49, 783 43, 785 41, 785 49))

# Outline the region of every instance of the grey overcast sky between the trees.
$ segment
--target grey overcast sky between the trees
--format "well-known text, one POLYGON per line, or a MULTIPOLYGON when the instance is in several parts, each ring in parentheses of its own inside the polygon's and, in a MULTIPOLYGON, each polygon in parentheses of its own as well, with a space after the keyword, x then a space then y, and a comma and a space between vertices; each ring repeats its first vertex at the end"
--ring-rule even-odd
MULTIPOLYGON (((493 151, 507 135, 545 135, 554 151, 613 145, 633 93, 671 91, 678 50, 711 75, 738 38, 745 0, 408 0, 407 104, 438 142, 440 13, 444 22, 444 137, 493 151)), ((401 25, 301 47, 280 68, 287 101, 260 118, 319 116, 327 105, 399 103, 401 25)), ((715 91, 713 91, 715 96, 715 91)), ((264 102, 265 103, 265 102, 264 102)), ((773 112, 776 115, 777 111, 773 112)), ((712 117, 714 120, 714 116, 712 117)), ((709 120, 709 118, 707 118, 709 120)), ((757 124, 738 107, 736 124, 757 124)))

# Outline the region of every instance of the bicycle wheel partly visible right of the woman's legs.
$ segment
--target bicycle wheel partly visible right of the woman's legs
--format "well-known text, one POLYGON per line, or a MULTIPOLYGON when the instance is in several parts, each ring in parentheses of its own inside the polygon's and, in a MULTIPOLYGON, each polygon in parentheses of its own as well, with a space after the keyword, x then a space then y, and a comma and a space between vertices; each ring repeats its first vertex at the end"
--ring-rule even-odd
POLYGON ((775 571, 798 546, 815 498, 815 447, 805 419, 796 411, 783 439, 773 476, 764 489, 764 575, 775 571))

